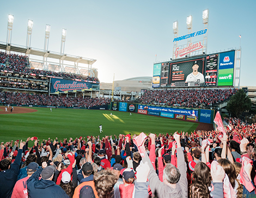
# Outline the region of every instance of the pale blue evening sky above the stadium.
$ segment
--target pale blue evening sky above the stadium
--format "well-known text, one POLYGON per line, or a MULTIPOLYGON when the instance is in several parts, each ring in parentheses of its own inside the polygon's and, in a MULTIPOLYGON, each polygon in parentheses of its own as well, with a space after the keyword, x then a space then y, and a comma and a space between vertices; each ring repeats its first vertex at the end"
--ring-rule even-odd
MULTIPOLYGON (((209 9, 208 53, 238 49, 241 35, 240 86, 256 86, 254 75, 256 1, 4 1, 0 12, 0 41, 7 40, 8 15, 14 15, 11 43, 26 46, 27 23, 33 20, 31 47, 44 49, 45 25, 51 25, 48 50, 60 52, 62 28, 65 53, 96 59, 101 82, 152 76, 157 61, 173 53, 173 22, 186 35, 186 17, 193 32, 204 28, 202 12, 209 9), (157 56, 156 56, 157 55, 157 56)), ((192 42, 201 40, 194 37, 192 42)), ((180 42, 179 44, 185 44, 180 42)))

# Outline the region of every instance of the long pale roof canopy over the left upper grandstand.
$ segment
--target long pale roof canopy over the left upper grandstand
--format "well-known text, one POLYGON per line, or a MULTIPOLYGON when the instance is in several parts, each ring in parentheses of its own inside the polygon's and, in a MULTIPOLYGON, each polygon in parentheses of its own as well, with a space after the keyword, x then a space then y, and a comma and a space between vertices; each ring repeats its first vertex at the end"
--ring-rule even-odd
POLYGON ((84 58, 82 56, 60 54, 58 52, 51 52, 49 50, 25 47, 25 46, 20 46, 17 44, 9 44, 9 43, 5 43, 5 42, 0 42, 0 49, 10 50, 13 52, 19 52, 19 53, 23 53, 23 54, 42 56, 42 57, 47 57, 47 58, 52 58, 52 59, 59 59, 59 60, 64 60, 64 61, 79 62, 79 63, 84 63, 87 65, 93 65, 93 63, 97 61, 96 59, 88 59, 88 58, 84 58))

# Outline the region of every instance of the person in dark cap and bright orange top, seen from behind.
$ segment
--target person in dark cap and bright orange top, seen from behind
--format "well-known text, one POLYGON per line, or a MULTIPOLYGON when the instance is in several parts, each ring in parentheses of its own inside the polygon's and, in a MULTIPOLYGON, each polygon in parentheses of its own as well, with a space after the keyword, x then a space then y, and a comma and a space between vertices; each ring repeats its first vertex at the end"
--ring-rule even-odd
POLYGON ((82 174, 84 178, 80 181, 80 185, 76 187, 73 198, 80 198, 82 191, 86 190, 88 187, 93 189, 92 193, 94 193, 94 196, 98 198, 99 196, 97 195, 93 181, 93 165, 89 162, 84 163, 82 167, 82 174))

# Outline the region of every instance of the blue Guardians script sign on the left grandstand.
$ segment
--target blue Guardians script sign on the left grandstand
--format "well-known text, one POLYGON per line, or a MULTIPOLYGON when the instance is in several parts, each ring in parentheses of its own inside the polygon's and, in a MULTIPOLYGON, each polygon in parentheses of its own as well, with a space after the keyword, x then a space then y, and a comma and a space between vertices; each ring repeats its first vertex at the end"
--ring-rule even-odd
POLYGON ((66 93, 75 90, 92 90, 92 84, 84 81, 51 78, 51 93, 66 93))

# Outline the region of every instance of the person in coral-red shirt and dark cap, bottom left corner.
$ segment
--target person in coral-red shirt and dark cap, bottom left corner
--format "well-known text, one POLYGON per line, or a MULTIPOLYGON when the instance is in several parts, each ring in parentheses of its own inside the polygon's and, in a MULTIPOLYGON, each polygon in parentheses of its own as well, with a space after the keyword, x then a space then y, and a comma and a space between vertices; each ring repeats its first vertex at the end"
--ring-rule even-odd
POLYGON ((35 162, 31 162, 28 164, 28 166, 26 167, 28 176, 16 182, 13 189, 13 194, 11 194, 11 197, 21 197, 21 198, 28 197, 27 180, 29 179, 29 177, 32 176, 33 173, 35 173, 38 167, 39 167, 38 163, 35 163, 35 162))

